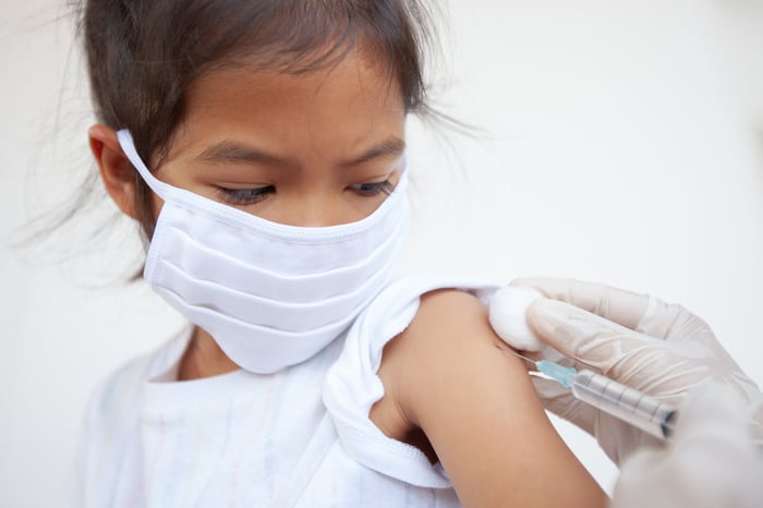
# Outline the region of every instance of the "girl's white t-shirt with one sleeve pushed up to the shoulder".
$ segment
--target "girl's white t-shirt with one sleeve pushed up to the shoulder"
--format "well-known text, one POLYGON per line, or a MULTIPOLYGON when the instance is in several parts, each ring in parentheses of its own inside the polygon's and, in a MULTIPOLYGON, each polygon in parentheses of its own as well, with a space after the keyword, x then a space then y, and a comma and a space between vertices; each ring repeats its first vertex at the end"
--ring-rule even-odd
POLYGON ((410 278, 387 288, 310 360, 261 375, 174 382, 191 330, 126 364, 95 394, 82 451, 83 507, 458 507, 439 464, 368 420, 384 346, 419 297, 497 288, 410 278))

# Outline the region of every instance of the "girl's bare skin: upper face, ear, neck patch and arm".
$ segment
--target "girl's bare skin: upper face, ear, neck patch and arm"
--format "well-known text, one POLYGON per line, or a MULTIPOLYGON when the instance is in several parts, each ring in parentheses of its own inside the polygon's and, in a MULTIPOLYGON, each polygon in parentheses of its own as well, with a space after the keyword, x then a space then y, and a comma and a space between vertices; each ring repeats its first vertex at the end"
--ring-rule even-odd
MULTIPOLYGON (((344 223, 384 201, 384 192, 360 192, 367 184, 398 181, 404 121, 396 83, 361 52, 299 76, 226 69, 192 87, 170 154, 154 169, 171 185, 272 221, 344 223), (220 189, 274 191, 243 203, 220 189)), ((134 170, 114 131, 95 125, 89 138, 107 191, 134 218, 134 170)), ((605 495, 546 418, 524 365, 498 343, 474 297, 424 295, 413 323, 385 348, 385 395, 370 418, 441 461, 464 506, 604 506, 605 495)), ((238 368, 196 329, 180 379, 238 368)))

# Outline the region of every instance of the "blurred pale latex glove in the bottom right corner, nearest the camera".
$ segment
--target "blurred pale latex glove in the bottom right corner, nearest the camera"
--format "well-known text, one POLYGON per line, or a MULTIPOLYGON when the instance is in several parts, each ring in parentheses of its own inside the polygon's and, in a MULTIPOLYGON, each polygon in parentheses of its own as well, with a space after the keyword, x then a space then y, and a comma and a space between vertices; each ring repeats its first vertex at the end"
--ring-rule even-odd
POLYGON ((724 388, 695 389, 669 444, 626 460, 613 508, 760 508, 763 450, 749 433, 749 408, 724 388))

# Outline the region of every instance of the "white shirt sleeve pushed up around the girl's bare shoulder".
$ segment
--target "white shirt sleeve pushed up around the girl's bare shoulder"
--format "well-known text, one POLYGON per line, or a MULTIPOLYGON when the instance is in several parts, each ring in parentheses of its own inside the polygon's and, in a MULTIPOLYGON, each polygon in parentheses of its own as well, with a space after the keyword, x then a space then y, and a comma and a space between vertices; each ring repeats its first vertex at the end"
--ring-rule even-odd
POLYGON ((402 482, 428 488, 451 487, 445 470, 432 464, 416 447, 387 437, 370 419, 384 396, 377 372, 384 347, 402 332, 419 310, 421 295, 437 289, 459 289, 485 304, 499 285, 452 276, 426 275, 398 280, 358 317, 344 349, 324 385, 324 403, 348 455, 363 465, 402 482))

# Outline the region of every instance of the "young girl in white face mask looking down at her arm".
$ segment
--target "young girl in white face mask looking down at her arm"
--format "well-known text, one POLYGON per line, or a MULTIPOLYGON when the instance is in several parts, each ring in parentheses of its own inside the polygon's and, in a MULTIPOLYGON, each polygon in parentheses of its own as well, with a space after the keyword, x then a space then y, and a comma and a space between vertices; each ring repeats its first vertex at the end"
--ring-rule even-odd
POLYGON ((82 506, 581 506, 492 285, 392 282, 413 0, 88 0, 106 189, 191 326, 111 376, 82 506))

